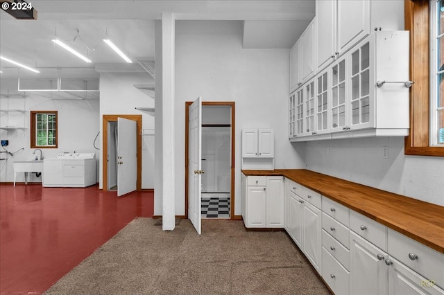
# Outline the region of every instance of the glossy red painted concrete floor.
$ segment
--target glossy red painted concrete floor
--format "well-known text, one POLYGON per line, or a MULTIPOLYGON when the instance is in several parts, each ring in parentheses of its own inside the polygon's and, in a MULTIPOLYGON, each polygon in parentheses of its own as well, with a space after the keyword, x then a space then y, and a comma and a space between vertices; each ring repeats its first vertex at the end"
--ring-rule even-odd
POLYGON ((152 192, 0 185, 0 293, 42 294, 135 217, 152 192))

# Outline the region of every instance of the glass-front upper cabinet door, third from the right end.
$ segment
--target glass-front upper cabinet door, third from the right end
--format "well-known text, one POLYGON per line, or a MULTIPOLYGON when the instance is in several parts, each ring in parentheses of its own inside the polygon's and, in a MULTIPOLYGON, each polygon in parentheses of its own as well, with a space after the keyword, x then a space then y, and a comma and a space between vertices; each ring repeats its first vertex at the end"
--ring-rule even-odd
POLYGON ((328 100, 329 98, 329 86, 328 86, 328 73, 325 71, 317 76, 318 87, 316 88, 316 134, 328 133, 328 100))

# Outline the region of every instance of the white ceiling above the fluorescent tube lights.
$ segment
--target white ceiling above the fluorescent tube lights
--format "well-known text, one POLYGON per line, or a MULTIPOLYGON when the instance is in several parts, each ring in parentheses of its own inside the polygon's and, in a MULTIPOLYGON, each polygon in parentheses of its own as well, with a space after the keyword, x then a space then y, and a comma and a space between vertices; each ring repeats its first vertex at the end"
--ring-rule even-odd
MULTIPOLYGON (((31 1, 28 1, 28 3, 31 1)), ((154 20, 174 12, 180 20, 243 21, 245 48, 290 48, 314 17, 315 0, 219 1, 74 1, 33 0, 37 20, 18 20, 1 10, 0 54, 36 67, 34 74, 0 61, 1 78, 20 76, 97 75, 104 65, 128 66, 106 46, 108 37, 133 60, 154 59, 154 20), (51 42, 53 37, 92 60, 87 64, 51 42), (89 71, 83 71, 89 69, 89 71)), ((178 23, 180 24, 180 23, 178 23)))

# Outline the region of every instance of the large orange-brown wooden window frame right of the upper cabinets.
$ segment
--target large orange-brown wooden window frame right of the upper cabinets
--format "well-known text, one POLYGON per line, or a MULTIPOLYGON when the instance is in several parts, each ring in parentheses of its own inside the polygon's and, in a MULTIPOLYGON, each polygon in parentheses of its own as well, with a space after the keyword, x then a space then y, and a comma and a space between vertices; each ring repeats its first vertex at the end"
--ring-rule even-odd
POLYGON ((429 0, 405 0, 405 29, 410 30, 410 134, 404 154, 444 157, 444 147, 430 146, 429 0))

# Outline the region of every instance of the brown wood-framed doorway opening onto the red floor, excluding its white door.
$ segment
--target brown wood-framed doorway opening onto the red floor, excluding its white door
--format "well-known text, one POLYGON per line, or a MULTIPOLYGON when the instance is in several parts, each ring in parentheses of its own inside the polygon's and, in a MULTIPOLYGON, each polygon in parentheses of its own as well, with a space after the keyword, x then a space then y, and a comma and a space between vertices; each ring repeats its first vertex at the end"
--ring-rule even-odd
MULTIPOLYGON (((137 149, 137 179, 136 189, 142 190, 142 115, 103 115, 102 120, 102 142, 103 142, 103 190, 114 190, 114 186, 117 182, 114 181, 114 175, 116 175, 116 136, 117 121, 118 118, 126 118, 133 120, 136 123, 135 137, 136 137, 136 149, 137 149), (110 148, 111 147, 111 148, 110 148), (114 152, 113 152, 114 151, 114 152), (111 165, 112 163, 112 165, 111 165)), ((129 179, 133 181, 133 179, 129 179)))

